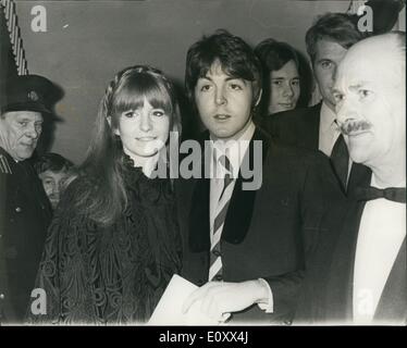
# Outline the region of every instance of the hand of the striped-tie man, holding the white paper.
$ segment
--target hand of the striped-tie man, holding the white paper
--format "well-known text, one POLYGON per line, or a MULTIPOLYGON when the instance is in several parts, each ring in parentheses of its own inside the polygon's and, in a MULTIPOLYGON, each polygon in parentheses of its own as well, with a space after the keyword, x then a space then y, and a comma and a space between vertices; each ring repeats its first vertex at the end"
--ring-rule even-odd
POLYGON ((240 283, 209 282, 189 295, 182 310, 187 313, 194 303, 200 302, 203 314, 224 323, 231 313, 266 301, 268 288, 259 279, 240 283))

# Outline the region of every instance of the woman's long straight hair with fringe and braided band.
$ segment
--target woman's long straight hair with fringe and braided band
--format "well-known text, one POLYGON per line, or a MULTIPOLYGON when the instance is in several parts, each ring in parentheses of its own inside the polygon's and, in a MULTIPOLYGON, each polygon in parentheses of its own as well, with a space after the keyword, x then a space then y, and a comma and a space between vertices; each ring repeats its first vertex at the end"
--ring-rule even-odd
POLYGON ((101 225, 110 225, 127 204, 123 182, 123 147, 114 134, 124 111, 136 110, 147 100, 170 116, 170 129, 181 133, 181 116, 170 80, 147 65, 127 67, 110 82, 100 102, 95 133, 77 175, 86 178, 75 197, 75 208, 101 225))

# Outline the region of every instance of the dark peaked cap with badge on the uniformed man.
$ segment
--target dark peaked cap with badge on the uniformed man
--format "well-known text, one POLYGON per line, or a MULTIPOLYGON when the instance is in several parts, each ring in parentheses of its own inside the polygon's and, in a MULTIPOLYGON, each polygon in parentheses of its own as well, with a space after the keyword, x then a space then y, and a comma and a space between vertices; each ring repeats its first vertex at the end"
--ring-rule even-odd
POLYGON ((20 75, 1 86, 1 113, 10 111, 36 111, 52 114, 46 105, 47 94, 53 84, 39 75, 20 75))

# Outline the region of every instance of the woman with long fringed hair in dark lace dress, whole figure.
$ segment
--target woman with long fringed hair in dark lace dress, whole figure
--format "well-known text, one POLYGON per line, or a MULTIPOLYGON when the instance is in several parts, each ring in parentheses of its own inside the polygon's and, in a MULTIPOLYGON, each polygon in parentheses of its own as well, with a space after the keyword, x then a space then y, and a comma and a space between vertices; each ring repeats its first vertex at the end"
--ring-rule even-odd
POLYGON ((181 132, 181 120, 166 77, 144 65, 116 74, 87 157, 49 228, 37 278, 47 295, 41 321, 123 324, 150 318, 181 268, 172 183, 152 175, 159 161, 168 163, 171 130, 181 132))

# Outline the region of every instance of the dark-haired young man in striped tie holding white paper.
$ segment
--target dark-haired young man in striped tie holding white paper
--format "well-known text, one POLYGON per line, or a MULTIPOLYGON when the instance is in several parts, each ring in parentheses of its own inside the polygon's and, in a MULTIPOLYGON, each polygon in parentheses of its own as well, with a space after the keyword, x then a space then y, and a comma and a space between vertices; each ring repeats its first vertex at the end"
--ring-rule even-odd
POLYGON ((183 275, 201 286, 184 311, 199 303, 220 322, 291 323, 305 256, 329 196, 341 194, 335 177, 324 156, 255 126, 261 67, 240 38, 219 30, 194 44, 185 79, 208 132, 202 177, 178 182, 183 275))

